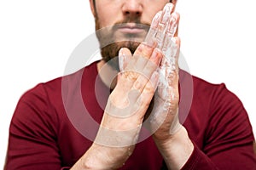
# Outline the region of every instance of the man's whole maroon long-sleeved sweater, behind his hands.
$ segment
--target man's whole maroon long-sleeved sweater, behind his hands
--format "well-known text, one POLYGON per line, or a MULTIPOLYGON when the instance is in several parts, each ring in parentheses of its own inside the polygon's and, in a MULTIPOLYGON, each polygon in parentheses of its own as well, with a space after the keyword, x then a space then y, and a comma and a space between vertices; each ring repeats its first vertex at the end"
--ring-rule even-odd
MULTIPOLYGON (((9 127, 4 169, 68 169, 83 156, 109 95, 97 73, 95 62, 72 75, 40 83, 20 98, 9 127)), ((256 169, 252 127, 241 101, 224 84, 191 80, 192 86, 189 74, 180 71, 185 88, 180 92, 184 97, 179 118, 195 144, 183 169, 256 169)), ((149 137, 137 144, 121 169, 161 167, 166 168, 149 137)))

